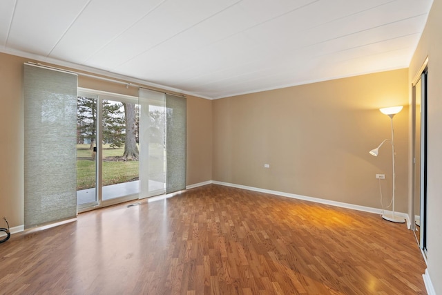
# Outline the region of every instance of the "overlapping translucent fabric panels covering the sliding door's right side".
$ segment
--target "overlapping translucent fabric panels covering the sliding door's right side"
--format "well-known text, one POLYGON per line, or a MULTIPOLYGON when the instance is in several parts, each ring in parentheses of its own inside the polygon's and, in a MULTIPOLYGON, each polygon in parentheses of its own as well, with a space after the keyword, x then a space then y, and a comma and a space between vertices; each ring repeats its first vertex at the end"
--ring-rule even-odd
POLYGON ((140 88, 140 198, 186 189, 186 98, 140 88))

